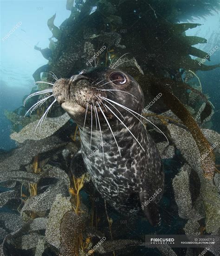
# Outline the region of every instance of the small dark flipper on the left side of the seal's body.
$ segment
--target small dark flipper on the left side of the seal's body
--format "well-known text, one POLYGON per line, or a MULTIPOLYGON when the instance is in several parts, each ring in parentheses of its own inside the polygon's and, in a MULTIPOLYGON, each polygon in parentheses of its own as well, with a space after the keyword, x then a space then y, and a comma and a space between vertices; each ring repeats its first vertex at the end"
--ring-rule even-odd
POLYGON ((71 173, 76 178, 82 177, 82 175, 86 172, 81 149, 78 150, 72 157, 70 169, 71 169, 71 173))

